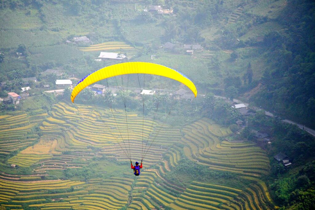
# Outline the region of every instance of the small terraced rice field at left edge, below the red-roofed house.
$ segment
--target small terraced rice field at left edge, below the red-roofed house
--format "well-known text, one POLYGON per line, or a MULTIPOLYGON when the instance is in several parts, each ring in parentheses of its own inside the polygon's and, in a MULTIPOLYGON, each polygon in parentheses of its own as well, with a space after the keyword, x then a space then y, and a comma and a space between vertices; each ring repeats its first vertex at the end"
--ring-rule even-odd
POLYGON ((34 121, 37 117, 42 120, 43 116, 31 116, 21 111, 0 116, 0 156, 29 146, 39 139, 38 135, 31 134, 31 129, 37 125, 38 120, 34 121))

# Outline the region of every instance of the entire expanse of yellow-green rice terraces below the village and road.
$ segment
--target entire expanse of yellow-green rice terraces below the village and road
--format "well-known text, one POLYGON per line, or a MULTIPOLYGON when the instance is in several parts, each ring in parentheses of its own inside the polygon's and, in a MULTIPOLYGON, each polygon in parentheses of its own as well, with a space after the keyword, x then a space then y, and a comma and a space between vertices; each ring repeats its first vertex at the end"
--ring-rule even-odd
MULTIPOLYGON (((116 120, 106 108, 73 107, 60 102, 54 105, 49 116, 40 110, 34 112, 34 116, 42 117, 39 121, 22 112, 1 116, 0 132, 15 135, 15 139, 8 137, 0 141, 1 149, 3 142, 15 144, 22 141, 18 136, 20 132, 31 139, 27 132, 38 122, 43 135, 40 139, 32 136, 33 141, 40 141, 8 160, 8 163, 22 167, 34 163, 40 166, 34 169, 33 175, 0 174, 0 209, 24 206, 38 209, 119 209, 126 206, 129 199, 127 209, 160 206, 173 209, 274 209, 268 188, 259 179, 269 172, 269 160, 265 152, 253 143, 220 141, 219 137, 230 135, 231 131, 206 118, 183 128, 165 124, 162 127, 159 122, 145 119, 142 127, 142 118, 129 113, 127 133, 124 112, 114 112, 116 120), (155 140, 145 158, 146 168, 139 177, 98 178, 85 182, 41 180, 48 170, 80 168, 88 165, 95 156, 128 161, 122 151, 125 148, 122 138, 125 142, 129 139, 127 147, 130 144, 131 151, 139 151, 142 130, 144 142, 149 139, 150 145, 152 139, 155 140), (99 152, 89 152, 87 146, 99 147, 99 152), (62 154, 64 151, 67 153, 62 154), (243 189, 203 182, 192 182, 187 188, 176 186, 165 178, 165 174, 176 167, 183 158, 181 155, 213 170, 233 172, 250 184, 243 189), (80 164, 74 161, 78 158, 80 164), (150 165, 157 167, 150 169, 150 165), (58 193, 56 189, 65 191, 58 193)), ((141 158, 140 153, 131 155, 133 159, 141 158)))

